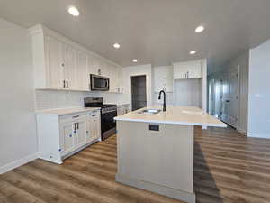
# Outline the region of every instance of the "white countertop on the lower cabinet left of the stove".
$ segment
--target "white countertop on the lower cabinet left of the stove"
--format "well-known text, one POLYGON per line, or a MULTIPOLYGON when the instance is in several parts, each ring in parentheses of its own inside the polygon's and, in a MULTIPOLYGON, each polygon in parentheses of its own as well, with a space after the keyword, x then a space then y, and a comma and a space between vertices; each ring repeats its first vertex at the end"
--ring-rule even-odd
POLYGON ((36 115, 72 115, 76 113, 84 113, 87 111, 99 110, 99 107, 71 107, 71 108, 59 108, 51 110, 37 111, 36 115))

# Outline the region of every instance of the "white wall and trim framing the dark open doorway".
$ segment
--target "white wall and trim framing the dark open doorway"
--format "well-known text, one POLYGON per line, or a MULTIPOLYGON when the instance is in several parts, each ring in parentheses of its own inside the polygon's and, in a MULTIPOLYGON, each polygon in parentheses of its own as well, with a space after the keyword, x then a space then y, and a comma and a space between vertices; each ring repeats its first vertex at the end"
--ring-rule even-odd
MULTIPOLYGON (((151 64, 130 66, 122 69, 122 80, 124 87, 123 103, 131 104, 131 77, 146 75, 147 78, 147 106, 152 105, 152 67, 151 64)), ((131 106, 130 106, 131 108, 131 106)))

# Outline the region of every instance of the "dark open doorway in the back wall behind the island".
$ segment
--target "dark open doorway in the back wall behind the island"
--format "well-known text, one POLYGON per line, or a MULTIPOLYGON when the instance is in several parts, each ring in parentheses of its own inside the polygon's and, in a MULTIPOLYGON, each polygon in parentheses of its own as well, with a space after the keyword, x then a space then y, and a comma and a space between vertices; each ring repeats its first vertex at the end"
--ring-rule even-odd
POLYGON ((132 111, 147 106, 146 75, 131 77, 132 111))

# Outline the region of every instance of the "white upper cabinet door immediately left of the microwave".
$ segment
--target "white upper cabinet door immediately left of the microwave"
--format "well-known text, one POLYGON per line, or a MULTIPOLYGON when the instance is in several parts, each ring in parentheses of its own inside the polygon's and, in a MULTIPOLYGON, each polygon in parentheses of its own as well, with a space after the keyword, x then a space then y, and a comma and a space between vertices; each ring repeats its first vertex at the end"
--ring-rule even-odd
POLYGON ((90 74, 88 74, 88 56, 85 52, 77 51, 77 84, 79 89, 89 89, 90 74))

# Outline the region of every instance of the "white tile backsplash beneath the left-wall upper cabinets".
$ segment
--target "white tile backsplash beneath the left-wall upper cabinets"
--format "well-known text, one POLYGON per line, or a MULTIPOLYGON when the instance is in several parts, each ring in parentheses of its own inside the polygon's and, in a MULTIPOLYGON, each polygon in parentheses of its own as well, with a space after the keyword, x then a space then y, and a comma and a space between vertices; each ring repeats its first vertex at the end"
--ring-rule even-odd
POLYGON ((104 103, 112 104, 120 104, 122 101, 121 94, 36 90, 36 110, 84 106, 85 97, 103 97, 104 103))

